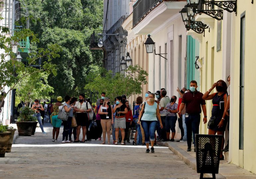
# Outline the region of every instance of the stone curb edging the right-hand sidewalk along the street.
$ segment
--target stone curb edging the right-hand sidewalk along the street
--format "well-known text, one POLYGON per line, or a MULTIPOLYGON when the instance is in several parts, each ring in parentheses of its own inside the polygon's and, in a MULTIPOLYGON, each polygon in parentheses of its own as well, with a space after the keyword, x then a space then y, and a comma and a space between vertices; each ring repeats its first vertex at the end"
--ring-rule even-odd
MULTIPOLYGON (((159 145, 161 146, 166 146, 168 147, 170 150, 173 151, 174 154, 178 155, 185 163, 187 163, 193 170, 196 170, 196 159, 195 157, 191 156, 188 152, 186 152, 185 150, 181 149, 180 147, 178 147, 177 145, 171 145, 168 142, 158 142, 159 145)), ((226 177, 222 176, 221 174, 215 174, 216 175, 216 179, 225 179, 226 177)), ((204 174, 205 177, 209 177, 211 178, 212 175, 205 173, 204 174)))

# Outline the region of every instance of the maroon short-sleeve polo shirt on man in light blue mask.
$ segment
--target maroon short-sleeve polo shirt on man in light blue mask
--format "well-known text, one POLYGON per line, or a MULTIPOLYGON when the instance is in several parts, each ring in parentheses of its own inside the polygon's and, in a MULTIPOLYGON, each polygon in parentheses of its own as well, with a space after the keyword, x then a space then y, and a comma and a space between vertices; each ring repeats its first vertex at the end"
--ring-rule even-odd
POLYGON ((186 104, 186 113, 200 114, 202 112, 201 105, 205 105, 202 99, 203 93, 199 91, 187 92, 182 97, 182 102, 186 104))

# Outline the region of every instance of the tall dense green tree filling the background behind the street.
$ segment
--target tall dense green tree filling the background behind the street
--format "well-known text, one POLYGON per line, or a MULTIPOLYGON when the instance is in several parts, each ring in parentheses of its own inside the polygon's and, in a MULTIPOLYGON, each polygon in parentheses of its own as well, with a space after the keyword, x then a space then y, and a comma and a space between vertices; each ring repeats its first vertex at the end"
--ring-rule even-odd
POLYGON ((77 95, 84 91, 86 76, 102 66, 101 50, 90 50, 90 34, 102 29, 103 0, 26 0, 30 14, 37 21, 31 29, 38 33, 38 47, 56 43, 62 49, 57 65, 58 75, 49 76, 53 96, 77 95))

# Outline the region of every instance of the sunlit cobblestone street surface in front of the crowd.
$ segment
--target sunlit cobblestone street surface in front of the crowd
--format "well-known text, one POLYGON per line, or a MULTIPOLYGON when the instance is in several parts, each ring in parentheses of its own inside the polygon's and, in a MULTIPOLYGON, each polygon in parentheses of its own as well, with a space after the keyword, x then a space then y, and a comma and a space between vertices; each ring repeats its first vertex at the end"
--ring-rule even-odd
MULTIPOLYGON (((12 152, 0 159, 0 178, 199 178, 184 161, 167 147, 99 145, 52 142, 37 128, 35 136, 18 137, 12 152)), ((63 129, 60 130, 60 139, 63 129)), ((111 136, 112 138, 112 136, 111 136)))

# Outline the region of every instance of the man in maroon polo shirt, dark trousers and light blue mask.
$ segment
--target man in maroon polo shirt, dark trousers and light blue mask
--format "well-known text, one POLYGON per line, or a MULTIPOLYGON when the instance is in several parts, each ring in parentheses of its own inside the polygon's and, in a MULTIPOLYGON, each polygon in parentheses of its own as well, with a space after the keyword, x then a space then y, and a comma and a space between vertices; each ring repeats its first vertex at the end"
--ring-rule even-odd
POLYGON ((183 110, 186 104, 185 123, 187 126, 187 151, 191 151, 192 143, 192 132, 194 140, 194 151, 195 151, 195 134, 199 134, 200 114, 201 106, 203 110, 203 123, 207 122, 205 100, 202 99, 203 93, 196 90, 197 82, 192 80, 190 82, 190 92, 183 95, 182 103, 179 109, 179 114, 183 110))

